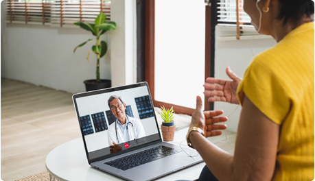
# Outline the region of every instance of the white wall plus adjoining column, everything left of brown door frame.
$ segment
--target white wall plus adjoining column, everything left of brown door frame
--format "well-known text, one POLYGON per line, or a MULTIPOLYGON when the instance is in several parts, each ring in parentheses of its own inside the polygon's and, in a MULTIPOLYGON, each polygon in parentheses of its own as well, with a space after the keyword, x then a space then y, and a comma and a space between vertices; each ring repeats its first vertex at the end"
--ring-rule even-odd
MULTIPOLYGON (((111 79, 113 86, 136 82, 135 10, 135 0, 112 1, 111 21, 117 23, 117 29, 101 37, 108 43, 108 52, 100 60, 100 76, 111 79)), ((69 93, 84 92, 83 81, 95 79, 95 54, 91 52, 86 61, 93 43, 73 53, 77 45, 94 38, 91 32, 79 27, 5 25, 4 15, 1 2, 1 77, 69 93)))

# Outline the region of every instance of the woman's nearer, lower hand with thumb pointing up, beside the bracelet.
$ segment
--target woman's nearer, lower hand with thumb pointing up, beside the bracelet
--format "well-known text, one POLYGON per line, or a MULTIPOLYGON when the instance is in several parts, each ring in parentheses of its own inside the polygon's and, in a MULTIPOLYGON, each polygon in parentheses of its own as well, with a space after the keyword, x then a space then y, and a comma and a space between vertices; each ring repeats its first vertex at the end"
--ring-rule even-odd
POLYGON ((203 112, 202 99, 201 97, 197 96, 197 106, 191 117, 190 128, 197 127, 201 130, 205 130, 206 137, 218 136, 222 134, 222 132, 218 130, 225 130, 226 125, 214 123, 227 121, 227 117, 216 117, 220 114, 223 114, 223 110, 209 110, 203 112))

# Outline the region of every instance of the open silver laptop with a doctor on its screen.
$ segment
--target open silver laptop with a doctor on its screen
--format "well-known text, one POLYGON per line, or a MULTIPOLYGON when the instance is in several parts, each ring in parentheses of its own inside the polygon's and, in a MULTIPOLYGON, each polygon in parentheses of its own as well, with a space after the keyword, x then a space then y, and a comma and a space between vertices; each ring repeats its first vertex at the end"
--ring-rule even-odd
POLYGON ((95 169, 154 180, 203 161, 194 149, 163 142, 146 82, 78 93, 73 104, 95 169))

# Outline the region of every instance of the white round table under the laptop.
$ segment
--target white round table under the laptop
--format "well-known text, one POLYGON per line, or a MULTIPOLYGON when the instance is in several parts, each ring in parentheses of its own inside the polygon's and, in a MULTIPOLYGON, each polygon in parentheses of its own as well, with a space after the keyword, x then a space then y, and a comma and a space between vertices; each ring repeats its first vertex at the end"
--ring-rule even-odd
MULTIPOLYGON (((174 141, 180 143, 187 129, 175 133, 174 141)), ((183 144, 182 144, 183 146, 183 144)), ((159 180, 195 180, 199 177, 205 162, 177 171, 159 180)), ((122 180, 103 171, 93 169, 87 161, 82 138, 59 145, 47 155, 46 169, 50 180, 122 180)))

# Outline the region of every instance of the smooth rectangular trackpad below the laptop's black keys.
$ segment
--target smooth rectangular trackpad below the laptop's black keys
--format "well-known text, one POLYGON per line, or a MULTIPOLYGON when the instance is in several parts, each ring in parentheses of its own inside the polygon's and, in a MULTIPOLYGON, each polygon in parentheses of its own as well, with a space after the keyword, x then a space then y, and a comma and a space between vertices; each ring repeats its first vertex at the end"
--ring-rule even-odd
POLYGON ((174 155, 155 160, 154 162, 148 162, 147 164, 141 165, 140 167, 163 174, 170 173, 189 164, 191 164, 190 160, 186 160, 174 155))

